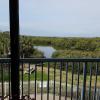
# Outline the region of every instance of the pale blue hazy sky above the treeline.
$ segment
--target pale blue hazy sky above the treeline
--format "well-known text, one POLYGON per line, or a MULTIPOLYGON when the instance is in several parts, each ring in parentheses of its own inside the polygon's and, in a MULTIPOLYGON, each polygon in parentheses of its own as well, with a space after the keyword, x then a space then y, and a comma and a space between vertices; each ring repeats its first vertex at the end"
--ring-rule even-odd
MULTIPOLYGON (((0 2, 0 30, 9 30, 9 0, 0 2)), ((20 34, 100 37, 100 0, 19 0, 20 34)))

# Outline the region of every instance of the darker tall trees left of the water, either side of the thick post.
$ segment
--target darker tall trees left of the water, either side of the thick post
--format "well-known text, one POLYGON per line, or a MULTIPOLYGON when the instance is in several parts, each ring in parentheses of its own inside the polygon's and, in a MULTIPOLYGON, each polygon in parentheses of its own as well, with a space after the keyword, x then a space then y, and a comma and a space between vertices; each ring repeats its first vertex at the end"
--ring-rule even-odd
MULTIPOLYGON (((8 57, 10 53, 10 34, 0 32, 0 57, 8 57)), ((20 38, 21 57, 43 57, 43 53, 33 48, 30 38, 20 38)))

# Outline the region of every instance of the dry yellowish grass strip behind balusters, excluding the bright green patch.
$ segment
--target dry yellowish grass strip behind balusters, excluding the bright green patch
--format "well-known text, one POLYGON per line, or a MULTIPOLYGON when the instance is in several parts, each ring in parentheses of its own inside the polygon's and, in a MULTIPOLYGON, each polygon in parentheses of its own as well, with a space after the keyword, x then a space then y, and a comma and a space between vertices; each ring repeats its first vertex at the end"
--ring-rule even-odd
MULTIPOLYGON (((38 71, 40 71, 41 69, 40 68, 37 68, 38 71)), ((46 75, 45 77, 47 77, 48 75, 48 69, 46 67, 43 68, 43 73, 46 75)), ((41 74, 41 73, 40 73, 41 74)), ((77 84, 77 79, 78 79, 78 75, 77 74, 74 74, 74 85, 77 84)), ((92 76, 92 86, 94 86, 95 84, 95 79, 96 77, 95 76, 92 76)), ((54 69, 53 68, 50 68, 50 80, 54 80, 54 69)), ((98 76, 97 78, 97 86, 100 87, 100 76, 98 76)), ((56 69, 56 81, 59 82, 60 81, 60 70, 59 69, 56 69)), ((90 76, 87 75, 87 86, 89 85, 90 83, 90 76)), ((66 82, 66 71, 62 71, 62 82, 65 83, 66 82)), ((72 72, 68 72, 68 84, 71 84, 72 82, 72 72)), ((79 77, 79 82, 80 82, 80 85, 83 84, 83 75, 81 74, 80 77, 79 77)))

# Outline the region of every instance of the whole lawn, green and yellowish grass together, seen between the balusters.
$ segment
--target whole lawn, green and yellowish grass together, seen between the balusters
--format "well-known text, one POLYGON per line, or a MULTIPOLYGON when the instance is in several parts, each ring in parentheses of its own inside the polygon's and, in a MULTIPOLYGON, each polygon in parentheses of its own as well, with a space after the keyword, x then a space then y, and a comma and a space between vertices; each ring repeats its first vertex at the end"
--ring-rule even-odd
MULTIPOLYGON (((21 72, 20 72, 20 80, 21 80, 21 72)), ((29 78, 29 75, 28 74, 24 74, 23 76, 23 80, 24 81, 27 81, 29 78)), ((54 80, 54 69, 53 68, 50 68, 50 75, 49 75, 49 80, 54 80)), ((77 78, 78 75, 77 74, 74 74, 74 80, 73 80, 73 83, 74 85, 77 85, 77 78)), ((41 67, 37 67, 37 80, 38 81, 41 81, 41 78, 42 78, 42 73, 41 73, 41 67)), ((56 81, 57 82, 60 82, 60 70, 59 69, 56 69, 56 77, 55 77, 56 81)), ((92 76, 92 86, 95 85, 95 79, 96 77, 95 76, 92 76)), ((2 80, 1 78, 1 74, 0 74, 0 81, 2 80)), ((7 72, 4 72, 3 74, 3 80, 4 81, 8 81, 9 80, 9 74, 7 72)), ((30 74, 30 81, 34 81, 35 80, 35 73, 32 73, 30 74)), ((46 81, 48 80, 48 68, 47 67, 44 67, 43 68, 43 80, 46 81)), ((87 75, 87 86, 90 84, 90 76, 87 75)), ((65 83, 66 82, 66 71, 62 71, 62 82, 65 83)), ((71 84, 72 82, 72 73, 71 72, 68 72, 68 84, 71 84)), ((83 75, 81 74, 80 77, 79 77, 79 83, 80 85, 83 84, 83 75)), ((100 87, 100 75, 98 76, 97 78, 97 86, 100 87)))

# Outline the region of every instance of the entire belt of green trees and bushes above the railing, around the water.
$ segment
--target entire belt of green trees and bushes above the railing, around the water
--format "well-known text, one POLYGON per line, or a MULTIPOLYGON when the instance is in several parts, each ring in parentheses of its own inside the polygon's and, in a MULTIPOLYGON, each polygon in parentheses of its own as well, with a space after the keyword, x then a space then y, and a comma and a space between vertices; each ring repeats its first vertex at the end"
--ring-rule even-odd
MULTIPOLYGON (((5 57, 10 51, 9 32, 0 33, 0 56, 5 57)), ((57 51, 55 58, 99 58, 100 38, 57 38, 20 36, 21 57, 43 57, 43 53, 34 49, 34 45, 53 46, 57 51)))

